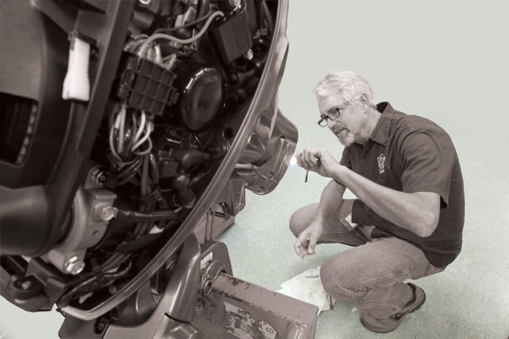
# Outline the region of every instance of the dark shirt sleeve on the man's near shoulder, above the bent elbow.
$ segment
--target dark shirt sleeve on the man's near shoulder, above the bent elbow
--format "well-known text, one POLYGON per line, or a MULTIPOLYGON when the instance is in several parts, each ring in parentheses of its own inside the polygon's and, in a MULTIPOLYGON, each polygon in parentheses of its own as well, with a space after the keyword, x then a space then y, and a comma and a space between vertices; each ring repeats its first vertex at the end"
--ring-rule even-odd
POLYGON ((400 154, 403 192, 437 193, 445 208, 456 155, 447 133, 436 127, 405 134, 401 140, 400 154))

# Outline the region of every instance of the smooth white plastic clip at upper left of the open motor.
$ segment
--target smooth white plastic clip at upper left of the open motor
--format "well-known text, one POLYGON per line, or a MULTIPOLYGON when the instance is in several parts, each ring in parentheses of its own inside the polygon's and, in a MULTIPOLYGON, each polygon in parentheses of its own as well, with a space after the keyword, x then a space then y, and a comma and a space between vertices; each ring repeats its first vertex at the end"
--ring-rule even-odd
POLYGON ((63 99, 90 100, 89 58, 90 44, 71 36, 69 64, 62 90, 63 99))

